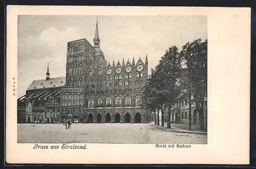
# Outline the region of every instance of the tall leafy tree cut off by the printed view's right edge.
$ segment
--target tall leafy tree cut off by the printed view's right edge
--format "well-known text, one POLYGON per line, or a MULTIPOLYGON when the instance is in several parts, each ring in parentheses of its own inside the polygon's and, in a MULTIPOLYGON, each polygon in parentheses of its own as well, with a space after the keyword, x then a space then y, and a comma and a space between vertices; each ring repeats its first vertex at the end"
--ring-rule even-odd
MULTIPOLYGON (((188 69, 188 78, 185 79, 189 98, 194 96, 196 108, 199 111, 200 129, 204 129, 204 104, 207 97, 207 40, 201 39, 187 42, 181 51, 181 56, 185 60, 188 69)), ((189 125, 191 126, 191 101, 189 103, 189 125)), ((191 127, 190 127, 191 128, 191 127)))

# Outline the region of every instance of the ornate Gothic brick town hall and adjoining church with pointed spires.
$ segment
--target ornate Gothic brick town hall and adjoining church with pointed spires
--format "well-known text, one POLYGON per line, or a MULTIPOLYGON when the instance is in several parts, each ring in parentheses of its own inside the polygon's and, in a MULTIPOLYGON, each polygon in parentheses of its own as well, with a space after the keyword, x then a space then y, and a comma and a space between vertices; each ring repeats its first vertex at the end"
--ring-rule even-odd
POLYGON ((147 56, 135 63, 107 64, 100 50, 98 24, 92 46, 87 39, 68 42, 66 77, 33 81, 18 99, 18 123, 147 123, 141 96, 148 74, 147 56))

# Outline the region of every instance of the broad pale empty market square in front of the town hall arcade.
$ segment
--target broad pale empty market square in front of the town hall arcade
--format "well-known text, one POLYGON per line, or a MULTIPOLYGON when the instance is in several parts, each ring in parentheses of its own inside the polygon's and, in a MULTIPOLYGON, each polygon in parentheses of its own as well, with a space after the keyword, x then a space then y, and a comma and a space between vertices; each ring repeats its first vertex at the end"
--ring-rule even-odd
POLYGON ((206 144, 207 135, 168 132, 150 124, 18 124, 18 143, 191 143, 206 144))

